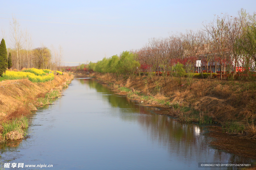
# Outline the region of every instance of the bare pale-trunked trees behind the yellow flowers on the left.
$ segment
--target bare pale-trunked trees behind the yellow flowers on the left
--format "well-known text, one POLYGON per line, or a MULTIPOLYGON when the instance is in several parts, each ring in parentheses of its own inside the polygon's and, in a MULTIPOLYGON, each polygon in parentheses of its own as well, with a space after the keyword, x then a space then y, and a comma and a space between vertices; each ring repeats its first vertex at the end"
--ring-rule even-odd
MULTIPOLYGON (((6 40, 4 30, 2 30, 2 35, 6 40)), ((40 47, 34 48, 31 33, 28 29, 22 30, 14 16, 10 21, 9 37, 8 69, 13 68, 17 71, 22 68, 60 70, 63 59, 62 47, 59 46, 56 50, 53 45, 49 48, 41 43, 40 47)))

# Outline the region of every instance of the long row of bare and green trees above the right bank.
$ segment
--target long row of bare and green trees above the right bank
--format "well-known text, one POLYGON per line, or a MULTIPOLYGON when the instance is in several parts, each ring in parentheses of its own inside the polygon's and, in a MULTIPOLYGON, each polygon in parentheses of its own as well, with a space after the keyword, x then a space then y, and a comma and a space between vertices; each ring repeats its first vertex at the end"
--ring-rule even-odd
POLYGON ((186 73, 220 73, 221 80, 223 76, 226 79, 227 74, 232 78, 237 73, 255 74, 256 14, 250 15, 244 9, 236 17, 221 14, 209 23, 204 22, 200 30, 172 33, 167 38, 151 38, 140 49, 89 63, 87 68, 102 73, 131 73, 138 67, 138 72, 163 72, 167 75, 175 71, 177 63, 183 64, 186 73), (138 63, 122 62, 126 53, 138 63), (196 60, 200 60, 198 65, 196 60))

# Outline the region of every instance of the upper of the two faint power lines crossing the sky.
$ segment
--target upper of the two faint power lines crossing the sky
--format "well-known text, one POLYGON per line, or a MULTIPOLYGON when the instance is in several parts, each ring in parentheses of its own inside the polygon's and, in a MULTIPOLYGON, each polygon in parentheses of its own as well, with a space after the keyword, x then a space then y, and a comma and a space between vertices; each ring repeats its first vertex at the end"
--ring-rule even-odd
MULTIPOLYGON (((0 14, 8 14, 1 13, 0 14)), ((23 14, 9 14, 9 15, 23 15, 23 14)), ((141 21, 114 21, 114 20, 97 20, 97 19, 81 19, 81 18, 63 18, 63 17, 47 17, 47 16, 37 16, 37 15, 23 15, 23 16, 32 16, 32 17, 46 17, 46 18, 61 18, 61 19, 78 19, 78 20, 91 20, 91 21, 111 21, 111 22, 136 22, 136 23, 157 23, 157 24, 197 24, 198 23, 168 23, 168 22, 141 22, 141 21)), ((201 24, 201 23, 200 23, 201 24)))

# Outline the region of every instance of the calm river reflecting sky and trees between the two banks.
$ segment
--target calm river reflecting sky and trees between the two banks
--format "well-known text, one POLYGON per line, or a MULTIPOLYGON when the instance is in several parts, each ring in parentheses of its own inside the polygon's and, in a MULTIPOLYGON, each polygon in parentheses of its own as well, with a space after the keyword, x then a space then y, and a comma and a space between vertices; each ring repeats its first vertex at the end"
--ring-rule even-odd
POLYGON ((24 163, 16 169, 51 164, 36 168, 47 170, 202 170, 216 168, 199 168, 200 162, 253 161, 210 147, 211 139, 197 124, 155 114, 157 108, 115 93, 107 85, 76 76, 53 105, 31 116, 26 139, 1 145, 2 161, 24 163))

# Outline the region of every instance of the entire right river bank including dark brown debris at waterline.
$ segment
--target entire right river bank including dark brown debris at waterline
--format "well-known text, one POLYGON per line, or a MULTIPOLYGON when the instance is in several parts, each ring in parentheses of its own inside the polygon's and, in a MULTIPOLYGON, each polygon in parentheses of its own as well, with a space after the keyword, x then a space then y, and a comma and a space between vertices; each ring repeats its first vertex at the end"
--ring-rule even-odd
POLYGON ((156 114, 172 116, 177 121, 205 124, 206 135, 214 137, 211 145, 217 149, 256 158, 255 106, 250 99, 255 91, 249 82, 195 80, 191 90, 188 85, 178 86, 176 77, 169 77, 165 86, 161 76, 116 78, 95 73, 90 76, 142 105, 161 108, 154 111, 156 114))

